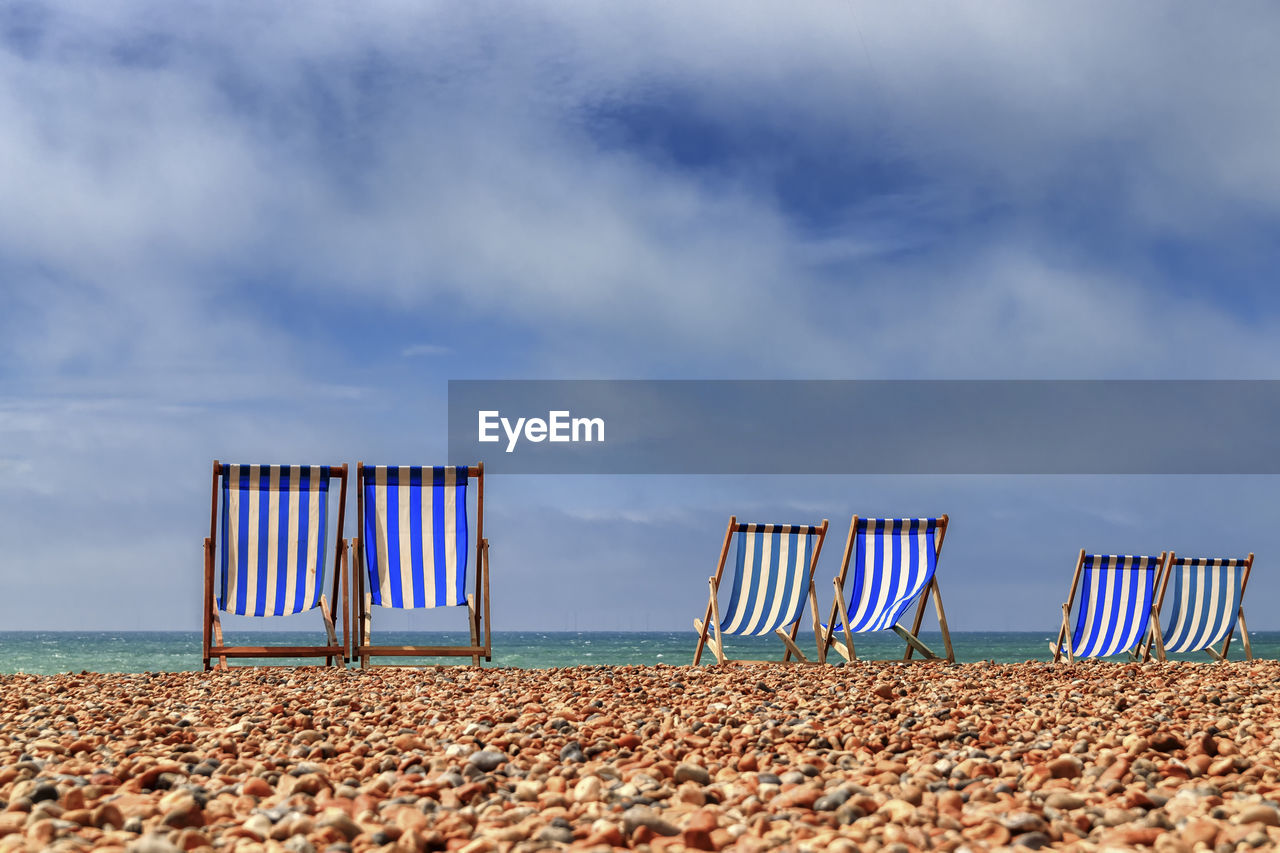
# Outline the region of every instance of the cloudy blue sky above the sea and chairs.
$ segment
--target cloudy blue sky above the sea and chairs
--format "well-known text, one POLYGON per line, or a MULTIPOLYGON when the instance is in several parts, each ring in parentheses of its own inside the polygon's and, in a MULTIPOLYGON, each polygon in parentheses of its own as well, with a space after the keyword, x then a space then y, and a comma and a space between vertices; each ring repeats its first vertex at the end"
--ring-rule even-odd
MULTIPOLYGON (((4 4, 0 628, 195 629, 214 459, 444 461, 449 379, 1280 378, 1277 28, 1262 3, 4 4)), ((1251 628, 1280 629, 1277 498, 495 475, 493 626, 682 630, 731 514, 829 517, 826 608, 851 514, 947 512, 952 629, 1053 633, 1082 547, 1253 551, 1251 628)))

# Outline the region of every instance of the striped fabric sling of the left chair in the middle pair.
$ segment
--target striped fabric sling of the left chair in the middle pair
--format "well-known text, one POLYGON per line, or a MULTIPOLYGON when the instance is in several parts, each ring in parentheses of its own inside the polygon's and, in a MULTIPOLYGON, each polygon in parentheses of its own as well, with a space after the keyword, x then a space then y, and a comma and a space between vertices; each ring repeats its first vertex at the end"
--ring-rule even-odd
POLYGON ((772 634, 791 625, 804 610, 813 567, 812 524, 739 524, 733 592, 721 617, 721 631, 772 634))

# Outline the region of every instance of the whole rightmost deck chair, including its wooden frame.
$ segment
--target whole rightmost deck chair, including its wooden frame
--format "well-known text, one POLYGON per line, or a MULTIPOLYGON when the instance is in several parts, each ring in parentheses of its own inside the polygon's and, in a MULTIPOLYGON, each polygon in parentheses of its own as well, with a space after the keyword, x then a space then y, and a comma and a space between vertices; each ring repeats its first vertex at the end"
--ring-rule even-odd
POLYGON ((1235 624, 1239 621, 1244 657, 1252 661, 1253 646, 1249 643, 1249 629, 1244 622, 1242 603, 1252 569, 1252 553, 1244 560, 1198 560, 1179 557, 1170 552, 1161 573, 1160 596, 1156 598, 1152 620, 1156 630, 1148 638, 1143 660, 1151 660, 1155 644, 1161 661, 1169 652, 1176 654, 1199 651, 1207 652, 1216 661, 1225 661, 1231 634, 1235 633, 1235 624), (1171 590, 1170 580, 1172 580, 1171 590), (1160 615, 1164 612, 1165 594, 1169 592, 1172 592, 1169 621, 1161 631, 1160 615), (1221 643, 1221 648, 1215 649, 1215 643, 1221 643))

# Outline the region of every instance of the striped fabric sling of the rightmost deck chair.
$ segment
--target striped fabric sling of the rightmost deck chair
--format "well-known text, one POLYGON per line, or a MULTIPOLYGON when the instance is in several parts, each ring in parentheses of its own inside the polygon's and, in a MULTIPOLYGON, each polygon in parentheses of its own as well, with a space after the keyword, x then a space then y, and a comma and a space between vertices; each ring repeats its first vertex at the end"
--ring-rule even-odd
POLYGON ((1244 597, 1248 560, 1172 557, 1161 602, 1172 603, 1165 629, 1166 652, 1198 652, 1233 630, 1244 597))

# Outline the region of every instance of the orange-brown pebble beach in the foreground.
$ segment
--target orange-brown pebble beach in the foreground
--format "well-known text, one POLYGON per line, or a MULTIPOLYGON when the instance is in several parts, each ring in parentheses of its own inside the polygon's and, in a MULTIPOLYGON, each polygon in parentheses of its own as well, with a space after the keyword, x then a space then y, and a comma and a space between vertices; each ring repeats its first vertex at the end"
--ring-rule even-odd
POLYGON ((0 853, 1268 849, 1277 722, 1277 662, 9 675, 0 853))

